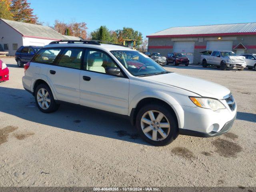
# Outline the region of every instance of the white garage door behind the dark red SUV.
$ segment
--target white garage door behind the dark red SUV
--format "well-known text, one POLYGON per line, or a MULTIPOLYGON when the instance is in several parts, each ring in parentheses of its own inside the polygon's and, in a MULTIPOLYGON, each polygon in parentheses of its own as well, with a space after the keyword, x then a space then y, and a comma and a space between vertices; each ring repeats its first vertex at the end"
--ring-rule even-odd
POLYGON ((193 63, 194 47, 194 41, 176 41, 174 42, 173 52, 183 53, 189 58, 190 63, 193 63))

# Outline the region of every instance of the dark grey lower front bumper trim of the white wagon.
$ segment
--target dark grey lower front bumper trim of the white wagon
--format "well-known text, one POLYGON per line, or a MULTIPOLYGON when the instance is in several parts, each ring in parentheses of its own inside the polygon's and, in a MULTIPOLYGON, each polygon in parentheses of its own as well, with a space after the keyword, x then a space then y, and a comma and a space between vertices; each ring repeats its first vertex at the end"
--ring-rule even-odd
POLYGON ((222 135, 230 130, 230 128, 233 126, 234 121, 236 119, 236 115, 234 118, 228 122, 222 127, 222 129, 218 132, 212 131, 210 133, 203 133, 203 132, 197 132, 197 131, 192 131, 192 130, 187 130, 187 129, 179 129, 179 134, 181 135, 189 135, 189 136, 195 136, 195 137, 215 137, 222 135))

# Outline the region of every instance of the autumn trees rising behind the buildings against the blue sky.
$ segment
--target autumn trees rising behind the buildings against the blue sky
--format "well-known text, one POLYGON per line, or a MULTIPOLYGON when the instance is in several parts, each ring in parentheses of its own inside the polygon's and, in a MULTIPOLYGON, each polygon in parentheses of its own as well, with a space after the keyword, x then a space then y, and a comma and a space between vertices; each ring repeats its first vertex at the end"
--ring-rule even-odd
MULTIPOLYGON (((0 18, 26 22, 31 24, 43 23, 30 8, 27 0, 0 0, 0 18)), ((48 26, 50 26, 48 24, 48 26)), ((85 22, 76 22, 74 19, 69 23, 55 20, 54 25, 50 26, 62 35, 76 36, 87 40, 102 40, 115 44, 122 44, 124 40, 136 40, 136 45, 146 47, 147 40, 142 39, 142 33, 133 28, 123 27, 118 30, 109 30, 106 26, 94 30, 90 34, 87 33, 87 24, 85 22)))

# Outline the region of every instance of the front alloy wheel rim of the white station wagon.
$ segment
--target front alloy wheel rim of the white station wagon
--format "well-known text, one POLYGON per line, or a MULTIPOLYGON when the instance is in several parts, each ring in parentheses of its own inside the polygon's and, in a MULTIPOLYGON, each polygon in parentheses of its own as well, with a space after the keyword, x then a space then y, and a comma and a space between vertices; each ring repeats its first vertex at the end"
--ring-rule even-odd
POLYGON ((164 140, 170 133, 170 123, 166 116, 156 110, 144 113, 140 121, 142 131, 151 140, 164 140))

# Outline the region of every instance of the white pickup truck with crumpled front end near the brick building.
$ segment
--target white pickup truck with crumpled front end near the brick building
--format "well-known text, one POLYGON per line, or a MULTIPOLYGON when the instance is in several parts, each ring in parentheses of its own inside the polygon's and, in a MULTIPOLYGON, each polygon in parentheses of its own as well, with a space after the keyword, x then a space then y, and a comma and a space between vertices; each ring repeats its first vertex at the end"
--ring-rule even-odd
POLYGON ((217 66, 221 70, 227 68, 244 70, 246 67, 245 57, 237 56, 232 51, 203 51, 201 52, 201 63, 203 67, 217 66))

